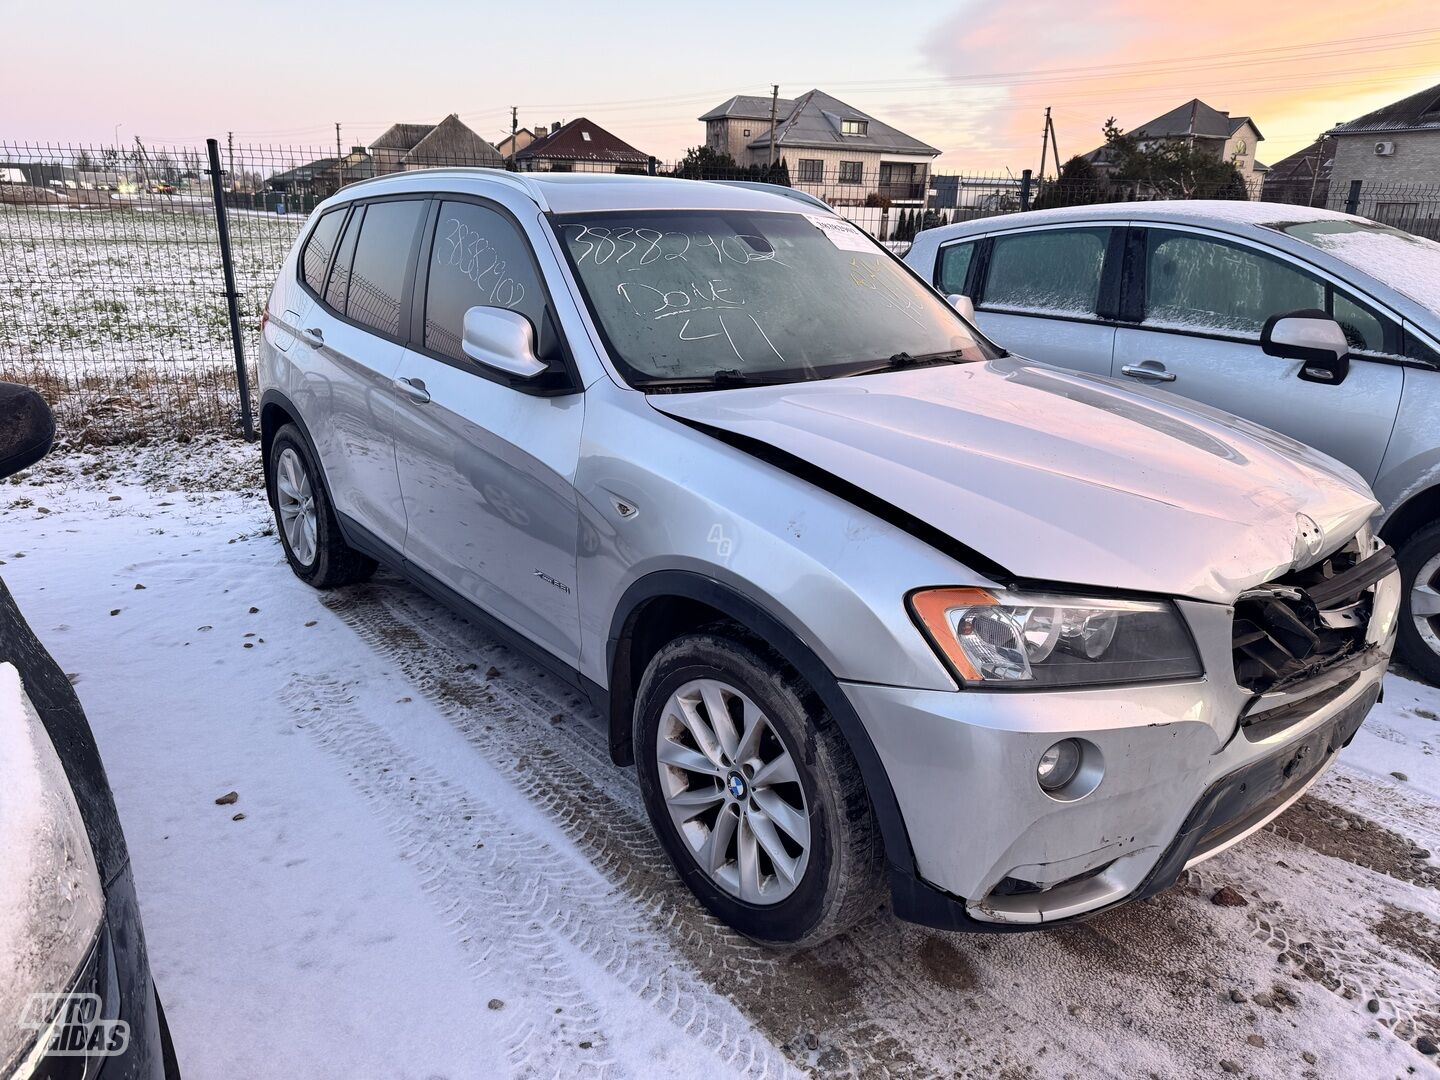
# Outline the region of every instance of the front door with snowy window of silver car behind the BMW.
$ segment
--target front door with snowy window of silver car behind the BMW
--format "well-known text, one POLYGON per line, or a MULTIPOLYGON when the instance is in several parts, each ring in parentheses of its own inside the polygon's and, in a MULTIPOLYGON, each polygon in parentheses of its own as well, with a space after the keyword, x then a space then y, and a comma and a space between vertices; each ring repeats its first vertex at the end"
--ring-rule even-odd
POLYGON ((1400 408, 1398 327, 1358 294, 1280 252, 1179 226, 1132 230, 1117 379, 1212 405, 1339 458, 1374 480, 1400 408), (1272 315, 1331 312, 1355 350, 1341 384, 1299 379, 1300 361, 1266 356, 1272 315))

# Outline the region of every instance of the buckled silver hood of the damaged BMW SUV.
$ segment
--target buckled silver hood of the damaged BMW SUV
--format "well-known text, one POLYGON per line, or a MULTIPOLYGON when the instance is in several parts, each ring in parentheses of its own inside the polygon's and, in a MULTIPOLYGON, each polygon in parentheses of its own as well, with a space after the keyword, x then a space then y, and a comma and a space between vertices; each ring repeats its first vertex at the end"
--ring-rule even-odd
POLYGON ((1380 508, 1358 474, 1283 435, 1018 357, 649 402, 824 469, 1020 579, 1228 603, 1295 563, 1297 514, 1323 530, 1309 563, 1380 508))

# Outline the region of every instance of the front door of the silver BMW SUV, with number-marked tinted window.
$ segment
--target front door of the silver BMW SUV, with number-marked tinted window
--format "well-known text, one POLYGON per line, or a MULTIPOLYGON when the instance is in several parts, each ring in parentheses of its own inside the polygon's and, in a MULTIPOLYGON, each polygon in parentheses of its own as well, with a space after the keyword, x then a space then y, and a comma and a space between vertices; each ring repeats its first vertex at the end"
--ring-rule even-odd
POLYGON ((405 557, 570 664, 579 661, 575 471, 585 397, 468 359, 465 311, 505 307, 564 364, 530 240, 498 204, 446 196, 425 226, 396 462, 405 557))

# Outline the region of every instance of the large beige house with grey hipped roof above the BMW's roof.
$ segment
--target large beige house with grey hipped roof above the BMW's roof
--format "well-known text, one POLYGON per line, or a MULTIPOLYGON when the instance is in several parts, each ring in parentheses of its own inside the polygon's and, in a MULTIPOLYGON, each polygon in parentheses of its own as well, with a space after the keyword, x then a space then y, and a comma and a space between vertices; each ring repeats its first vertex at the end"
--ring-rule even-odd
POLYGON ((711 150, 729 154, 739 166, 785 161, 795 187, 832 206, 876 199, 919 204, 932 163, 940 156, 935 147, 818 89, 778 101, 737 94, 701 115, 700 122, 711 150))

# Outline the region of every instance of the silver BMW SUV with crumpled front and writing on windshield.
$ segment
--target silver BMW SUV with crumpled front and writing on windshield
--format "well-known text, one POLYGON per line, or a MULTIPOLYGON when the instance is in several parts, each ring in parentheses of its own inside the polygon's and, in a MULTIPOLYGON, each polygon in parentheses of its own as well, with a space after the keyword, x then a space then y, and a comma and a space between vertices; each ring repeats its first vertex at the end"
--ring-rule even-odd
POLYGON ((354 184, 261 379, 295 573, 384 563, 586 691, 768 942, 1149 896, 1299 798, 1394 641, 1349 468, 1009 357, 782 190, 354 184))

